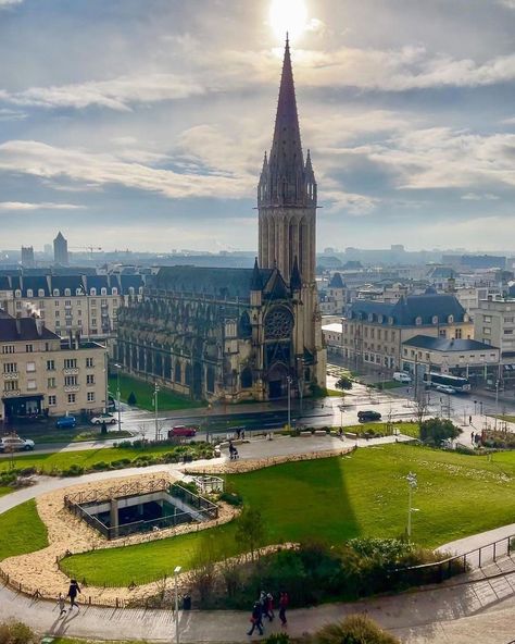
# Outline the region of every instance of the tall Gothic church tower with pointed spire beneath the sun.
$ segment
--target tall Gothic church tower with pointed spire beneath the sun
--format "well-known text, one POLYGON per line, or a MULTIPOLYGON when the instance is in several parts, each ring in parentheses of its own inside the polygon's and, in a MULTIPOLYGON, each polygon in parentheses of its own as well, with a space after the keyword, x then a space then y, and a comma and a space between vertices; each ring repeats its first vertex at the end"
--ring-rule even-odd
POLYGON ((296 307, 294 371, 325 387, 326 355, 315 281, 316 181, 302 152, 290 47, 286 39, 274 138, 258 185, 259 262, 277 268, 296 307))

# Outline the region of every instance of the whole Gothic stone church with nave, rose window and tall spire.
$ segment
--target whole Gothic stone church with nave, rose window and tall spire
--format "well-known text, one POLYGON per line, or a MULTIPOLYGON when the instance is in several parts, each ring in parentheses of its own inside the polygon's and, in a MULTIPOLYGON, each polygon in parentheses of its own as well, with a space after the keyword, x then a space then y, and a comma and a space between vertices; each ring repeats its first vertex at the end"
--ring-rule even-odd
POLYGON ((253 269, 164 267, 118 311, 123 370, 193 399, 238 403, 325 387, 315 282, 317 186, 304 162, 287 40, 258 185, 253 269))

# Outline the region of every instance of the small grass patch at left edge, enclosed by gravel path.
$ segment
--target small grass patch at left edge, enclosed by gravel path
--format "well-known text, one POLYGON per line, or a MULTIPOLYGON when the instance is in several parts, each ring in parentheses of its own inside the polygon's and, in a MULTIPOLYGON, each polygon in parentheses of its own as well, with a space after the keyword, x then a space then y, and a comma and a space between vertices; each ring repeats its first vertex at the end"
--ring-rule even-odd
POLYGON ((0 561, 48 546, 47 528, 34 499, 0 515, 0 561))

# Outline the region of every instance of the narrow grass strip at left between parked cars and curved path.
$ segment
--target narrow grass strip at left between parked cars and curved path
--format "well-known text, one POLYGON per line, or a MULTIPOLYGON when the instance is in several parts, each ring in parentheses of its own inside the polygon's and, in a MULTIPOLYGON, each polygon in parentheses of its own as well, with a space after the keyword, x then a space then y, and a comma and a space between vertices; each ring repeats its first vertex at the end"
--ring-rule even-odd
MULTIPOLYGON (((111 463, 120 459, 134 459, 141 456, 152 456, 173 451, 172 445, 159 445, 155 447, 141 448, 122 448, 109 447, 98 449, 85 449, 79 451, 52 451, 51 454, 26 454, 14 457, 14 467, 36 468, 38 471, 55 472, 65 470, 74 465, 89 469, 98 462, 111 463)), ((10 458, 0 459, 0 472, 10 470, 10 458)))

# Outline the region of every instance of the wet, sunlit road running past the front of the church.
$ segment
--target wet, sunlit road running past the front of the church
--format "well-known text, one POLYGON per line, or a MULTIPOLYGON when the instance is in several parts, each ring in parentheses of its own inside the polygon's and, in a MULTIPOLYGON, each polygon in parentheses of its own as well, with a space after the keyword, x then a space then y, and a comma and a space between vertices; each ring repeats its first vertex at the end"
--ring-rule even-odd
MULTIPOLYGON (((334 388, 336 377, 328 376, 328 386, 334 388)), ((413 387, 399 387, 380 392, 355 383, 351 392, 343 397, 330 396, 323 399, 303 401, 302 410, 298 400, 291 404, 291 422, 311 428, 349 426, 357 422, 357 411, 375 409, 382 420, 400 421, 416 418, 417 406, 413 400, 413 387)), ((479 431, 488 422, 486 414, 495 412, 495 401, 476 394, 449 396, 436 391, 427 393, 428 407, 426 416, 451 418, 457 425, 468 425, 473 417, 474 429, 479 431), (476 404, 474 403, 476 400, 476 404), (481 413, 482 412, 482 413, 481 413)), ((502 403, 500 412, 515 413, 515 400, 502 403)), ((155 437, 155 418, 150 411, 134 409, 123 405, 122 429, 133 433, 137 438, 153 439, 155 437)), ((243 426, 248 434, 255 431, 281 429, 288 423, 288 411, 285 403, 267 403, 255 405, 226 406, 222 412, 215 409, 193 409, 158 416, 158 430, 165 436, 168 429, 176 424, 194 424, 201 428, 199 439, 206 434, 227 434, 235 425, 243 426)), ((111 426, 113 430, 116 425, 111 426)), ((59 430, 55 430, 56 432, 59 430)), ((20 430, 23 436, 23 429, 20 430)), ((123 439, 123 438, 122 438, 123 439)), ((80 443, 38 443, 32 454, 50 454, 52 451, 77 451, 84 449, 101 449, 111 447, 116 438, 109 441, 87 441, 80 443)), ((9 458, 9 455, 0 455, 9 458)))

